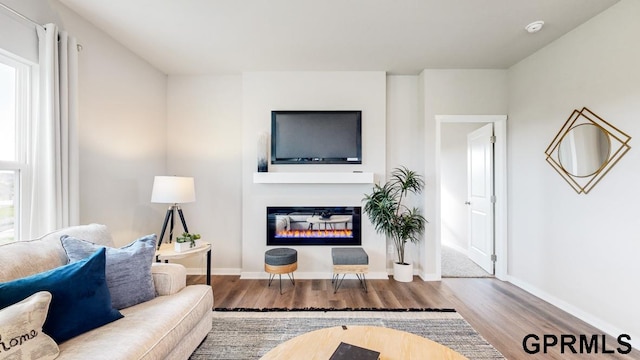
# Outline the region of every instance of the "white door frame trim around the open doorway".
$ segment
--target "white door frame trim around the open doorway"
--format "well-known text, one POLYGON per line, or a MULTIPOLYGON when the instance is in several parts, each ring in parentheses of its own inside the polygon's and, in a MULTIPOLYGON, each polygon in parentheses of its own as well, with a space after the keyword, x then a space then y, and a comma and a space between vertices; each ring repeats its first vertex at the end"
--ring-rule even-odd
POLYGON ((441 186, 441 130, 442 123, 493 123, 496 143, 494 147, 495 169, 495 253, 497 261, 495 265, 495 277, 504 280, 507 276, 507 115, 436 115, 436 161, 435 161, 435 255, 436 273, 423 274, 423 278, 442 278, 442 244, 441 244, 441 214, 440 203, 442 201, 441 186))

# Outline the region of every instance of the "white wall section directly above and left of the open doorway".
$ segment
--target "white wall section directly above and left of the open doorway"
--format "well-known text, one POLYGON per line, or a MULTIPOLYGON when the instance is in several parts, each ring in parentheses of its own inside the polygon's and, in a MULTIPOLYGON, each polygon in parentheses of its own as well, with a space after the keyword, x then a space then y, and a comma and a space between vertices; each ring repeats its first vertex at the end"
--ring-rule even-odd
POLYGON ((436 198, 436 115, 499 115, 507 113, 506 70, 424 70, 420 74, 420 116, 424 119, 425 160, 425 241, 421 247, 423 271, 427 280, 439 278, 440 239, 434 222, 440 221, 436 198))

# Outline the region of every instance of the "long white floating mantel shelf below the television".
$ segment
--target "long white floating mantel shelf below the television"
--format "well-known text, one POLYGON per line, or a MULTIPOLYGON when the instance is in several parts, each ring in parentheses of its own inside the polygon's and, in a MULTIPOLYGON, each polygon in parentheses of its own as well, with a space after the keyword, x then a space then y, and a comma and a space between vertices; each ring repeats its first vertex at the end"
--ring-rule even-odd
POLYGON ((253 173, 255 184, 373 184, 371 172, 253 173))

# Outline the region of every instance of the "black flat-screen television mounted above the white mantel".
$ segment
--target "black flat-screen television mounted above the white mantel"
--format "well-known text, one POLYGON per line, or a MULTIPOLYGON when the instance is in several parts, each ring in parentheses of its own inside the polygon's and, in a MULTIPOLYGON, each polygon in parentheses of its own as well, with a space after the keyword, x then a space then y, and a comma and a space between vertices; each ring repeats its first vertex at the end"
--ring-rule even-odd
POLYGON ((362 111, 272 111, 271 163, 362 164, 362 111))

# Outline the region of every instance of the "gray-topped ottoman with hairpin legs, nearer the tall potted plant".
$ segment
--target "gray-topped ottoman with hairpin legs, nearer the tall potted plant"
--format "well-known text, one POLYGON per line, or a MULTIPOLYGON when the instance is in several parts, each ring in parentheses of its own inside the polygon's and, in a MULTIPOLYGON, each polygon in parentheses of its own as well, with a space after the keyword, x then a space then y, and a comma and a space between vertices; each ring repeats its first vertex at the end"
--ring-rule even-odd
POLYGON ((365 292, 367 290, 367 280, 365 274, 369 272, 369 255, 362 248, 332 248, 331 258, 333 260, 333 293, 337 293, 342 280, 347 274, 356 274, 360 285, 365 292), (342 279, 338 279, 342 274, 342 279))

